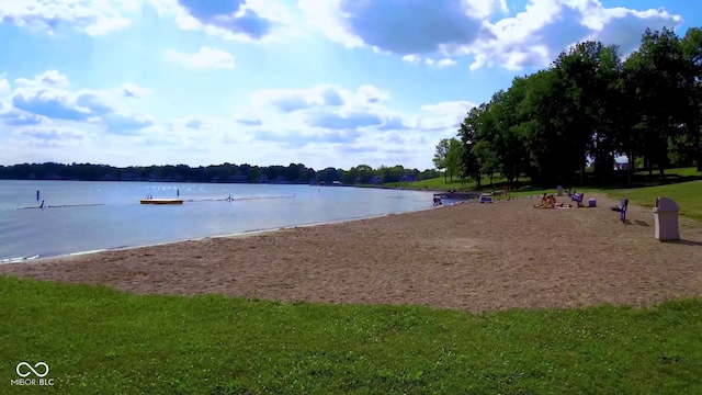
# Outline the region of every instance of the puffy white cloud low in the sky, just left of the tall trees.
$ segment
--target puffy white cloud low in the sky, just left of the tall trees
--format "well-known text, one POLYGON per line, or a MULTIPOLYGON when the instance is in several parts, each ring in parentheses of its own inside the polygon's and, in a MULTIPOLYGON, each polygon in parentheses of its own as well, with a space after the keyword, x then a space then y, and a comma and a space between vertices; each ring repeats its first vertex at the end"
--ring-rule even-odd
POLYGON ((244 127, 236 136, 240 140, 247 136, 251 144, 268 143, 271 151, 276 148, 270 144, 294 149, 299 161, 313 167, 363 162, 422 167, 417 163, 429 163, 427 153, 433 151, 435 142, 455 136, 475 105, 446 101, 401 112, 389 106, 387 99, 389 93, 374 86, 256 91, 247 114, 262 124, 244 127), (325 100, 329 92, 341 101, 329 105, 325 100))

